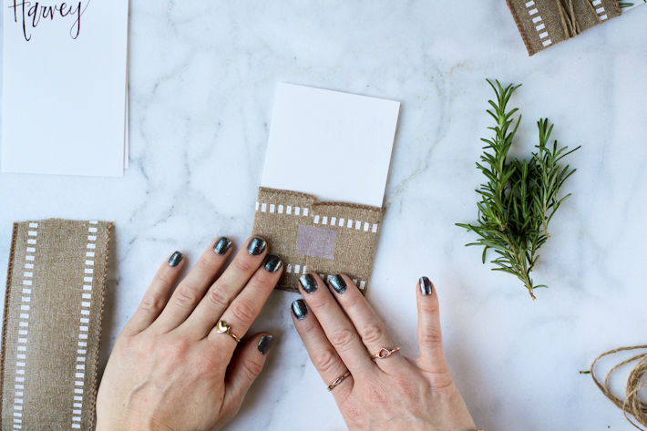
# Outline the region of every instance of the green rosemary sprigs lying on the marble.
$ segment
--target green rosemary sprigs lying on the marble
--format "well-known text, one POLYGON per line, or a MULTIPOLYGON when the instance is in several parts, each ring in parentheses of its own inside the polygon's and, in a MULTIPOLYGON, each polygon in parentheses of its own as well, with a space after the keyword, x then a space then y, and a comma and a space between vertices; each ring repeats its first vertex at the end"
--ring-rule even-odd
POLYGON ((534 284, 530 272, 539 259, 539 247, 549 239, 549 222, 561 203, 570 197, 569 194, 558 199, 560 188, 576 170, 569 170, 568 165, 560 168, 558 162, 576 149, 568 152, 567 147, 558 149, 556 140, 551 148, 552 126, 549 127, 548 119, 541 118, 537 123, 539 145, 535 146, 537 151, 532 153, 532 158, 508 162, 508 150, 521 122, 519 115, 511 128, 512 116, 518 109, 508 112, 508 101, 520 86, 503 88, 498 81, 496 83, 495 87, 488 80, 497 95, 496 102, 488 101, 493 108, 488 109, 488 114, 496 121, 496 126, 489 128, 494 131, 494 137, 481 139, 488 145, 480 157, 481 163, 477 163, 477 168, 488 179, 477 190, 481 195, 477 203, 478 224, 457 223, 457 226, 478 234, 478 241, 467 246, 484 246, 483 263, 488 249, 495 251, 498 257, 492 263, 497 268, 493 271, 517 276, 535 300, 534 289, 548 286, 534 284))

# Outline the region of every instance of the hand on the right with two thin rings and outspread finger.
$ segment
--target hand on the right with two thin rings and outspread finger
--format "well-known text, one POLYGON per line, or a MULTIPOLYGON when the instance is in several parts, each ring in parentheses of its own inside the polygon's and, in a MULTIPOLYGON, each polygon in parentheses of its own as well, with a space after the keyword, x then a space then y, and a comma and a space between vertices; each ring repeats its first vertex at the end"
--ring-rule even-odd
POLYGON ((388 354, 396 344, 345 275, 330 288, 316 274, 300 279, 303 300, 293 303, 293 321, 325 385, 351 430, 474 431, 443 353, 438 297, 426 277, 416 286, 420 357, 388 354), (382 352, 383 358, 371 359, 382 352))

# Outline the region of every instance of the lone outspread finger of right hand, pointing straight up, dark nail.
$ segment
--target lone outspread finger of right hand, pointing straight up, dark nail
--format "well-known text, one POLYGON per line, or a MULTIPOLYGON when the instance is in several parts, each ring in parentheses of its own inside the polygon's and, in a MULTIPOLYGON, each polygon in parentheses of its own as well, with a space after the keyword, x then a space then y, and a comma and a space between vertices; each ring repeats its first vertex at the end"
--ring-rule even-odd
POLYGON ((438 385, 451 383, 451 374, 445 361, 443 337, 440 331, 438 295, 436 286, 428 278, 422 277, 416 289, 418 307, 418 344, 420 347, 420 367, 436 375, 438 385), (449 379, 448 383, 445 380, 449 379))

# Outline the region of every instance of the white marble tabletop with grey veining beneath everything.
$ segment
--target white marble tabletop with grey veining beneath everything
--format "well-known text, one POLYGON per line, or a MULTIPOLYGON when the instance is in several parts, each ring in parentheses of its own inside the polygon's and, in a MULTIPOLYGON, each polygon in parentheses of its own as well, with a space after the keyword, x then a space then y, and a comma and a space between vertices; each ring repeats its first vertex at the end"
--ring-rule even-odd
MULTIPOLYGON (((133 1, 130 169, 123 179, 0 175, 0 278, 13 221, 115 221, 105 363, 170 252, 194 262, 217 235, 248 236, 277 82, 391 98, 402 109, 369 301, 404 352, 416 355, 413 289, 426 274, 479 427, 630 429, 578 371, 647 341, 646 22, 638 7, 528 57, 503 1, 133 1), (486 77, 523 83, 518 152, 535 145, 539 117, 582 146, 570 158, 573 197, 535 272, 550 288, 536 302, 481 264, 463 246, 474 236, 454 226, 476 217, 486 77)), ((294 297, 273 293, 255 323, 277 341, 226 429, 344 429, 293 329, 294 297)))

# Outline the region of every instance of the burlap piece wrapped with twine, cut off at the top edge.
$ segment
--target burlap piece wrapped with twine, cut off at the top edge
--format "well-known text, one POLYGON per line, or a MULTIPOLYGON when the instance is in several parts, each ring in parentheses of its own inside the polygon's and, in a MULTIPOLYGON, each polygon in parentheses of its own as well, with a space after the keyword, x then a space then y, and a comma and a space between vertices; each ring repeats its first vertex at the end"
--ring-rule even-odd
POLYGON ((530 56, 621 15, 616 0, 506 0, 530 56))

